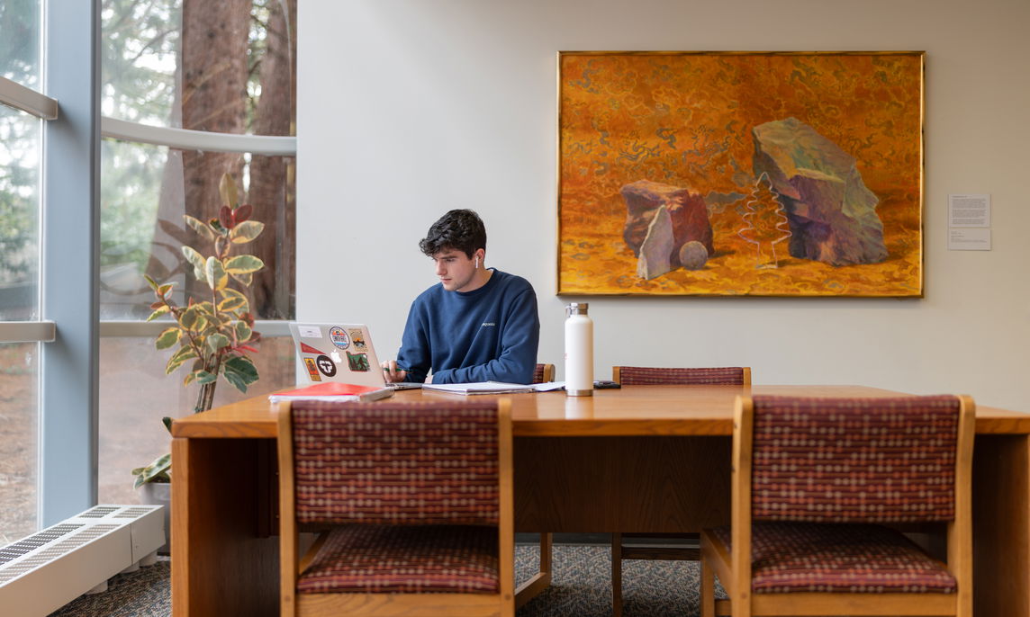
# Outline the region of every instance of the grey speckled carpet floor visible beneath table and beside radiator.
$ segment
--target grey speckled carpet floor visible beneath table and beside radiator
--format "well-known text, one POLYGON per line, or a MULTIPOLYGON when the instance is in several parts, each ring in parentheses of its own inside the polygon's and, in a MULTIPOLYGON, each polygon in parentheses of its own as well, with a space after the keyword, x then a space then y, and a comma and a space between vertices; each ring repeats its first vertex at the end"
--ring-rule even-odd
MULTIPOLYGON (((515 580, 536 572, 535 546, 515 549, 515 580)), ((698 614, 696 561, 623 561, 623 614, 692 617, 698 614)), ((612 614, 612 562, 607 546, 555 545, 554 579, 518 617, 602 617, 612 614)), ((50 617, 166 617, 171 615, 169 561, 119 574, 103 593, 83 595, 50 617)))

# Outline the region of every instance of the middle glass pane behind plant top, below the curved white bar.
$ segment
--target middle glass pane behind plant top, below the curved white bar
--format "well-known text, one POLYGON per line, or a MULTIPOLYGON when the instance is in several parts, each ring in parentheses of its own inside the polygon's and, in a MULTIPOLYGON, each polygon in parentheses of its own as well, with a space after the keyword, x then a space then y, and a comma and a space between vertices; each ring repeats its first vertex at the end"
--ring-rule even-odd
POLYGON ((258 256, 265 267, 249 288, 231 286, 251 299, 258 319, 294 315, 294 158, 181 151, 104 140, 101 147, 101 319, 145 319, 153 301, 143 274, 175 283, 173 299, 210 299, 182 255, 188 245, 203 256, 214 244, 187 227, 182 215, 206 221, 218 216, 218 182, 230 173, 251 220, 265 224, 252 243, 234 244, 231 255, 258 256))

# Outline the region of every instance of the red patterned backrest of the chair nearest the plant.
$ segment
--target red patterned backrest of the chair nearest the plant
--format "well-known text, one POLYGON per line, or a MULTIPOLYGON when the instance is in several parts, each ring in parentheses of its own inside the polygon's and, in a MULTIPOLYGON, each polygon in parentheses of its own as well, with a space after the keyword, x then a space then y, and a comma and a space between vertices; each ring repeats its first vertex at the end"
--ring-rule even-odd
POLYGON ((293 404, 302 523, 497 524, 497 402, 293 404))

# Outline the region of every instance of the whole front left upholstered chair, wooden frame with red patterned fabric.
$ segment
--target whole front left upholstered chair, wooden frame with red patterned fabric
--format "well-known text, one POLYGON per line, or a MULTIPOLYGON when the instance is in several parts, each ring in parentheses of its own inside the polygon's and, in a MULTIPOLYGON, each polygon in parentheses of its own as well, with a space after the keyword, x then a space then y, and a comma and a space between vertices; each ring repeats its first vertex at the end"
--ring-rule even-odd
POLYGON ((509 401, 295 401, 278 443, 281 615, 514 615, 509 401))

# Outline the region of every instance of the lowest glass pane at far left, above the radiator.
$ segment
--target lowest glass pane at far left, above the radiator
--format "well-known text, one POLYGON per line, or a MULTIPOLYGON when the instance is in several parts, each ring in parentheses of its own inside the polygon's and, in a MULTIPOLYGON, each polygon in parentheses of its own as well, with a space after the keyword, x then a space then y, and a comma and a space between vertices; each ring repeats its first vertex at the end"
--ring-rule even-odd
POLYGON ((36 531, 39 343, 0 343, 0 546, 36 531))

